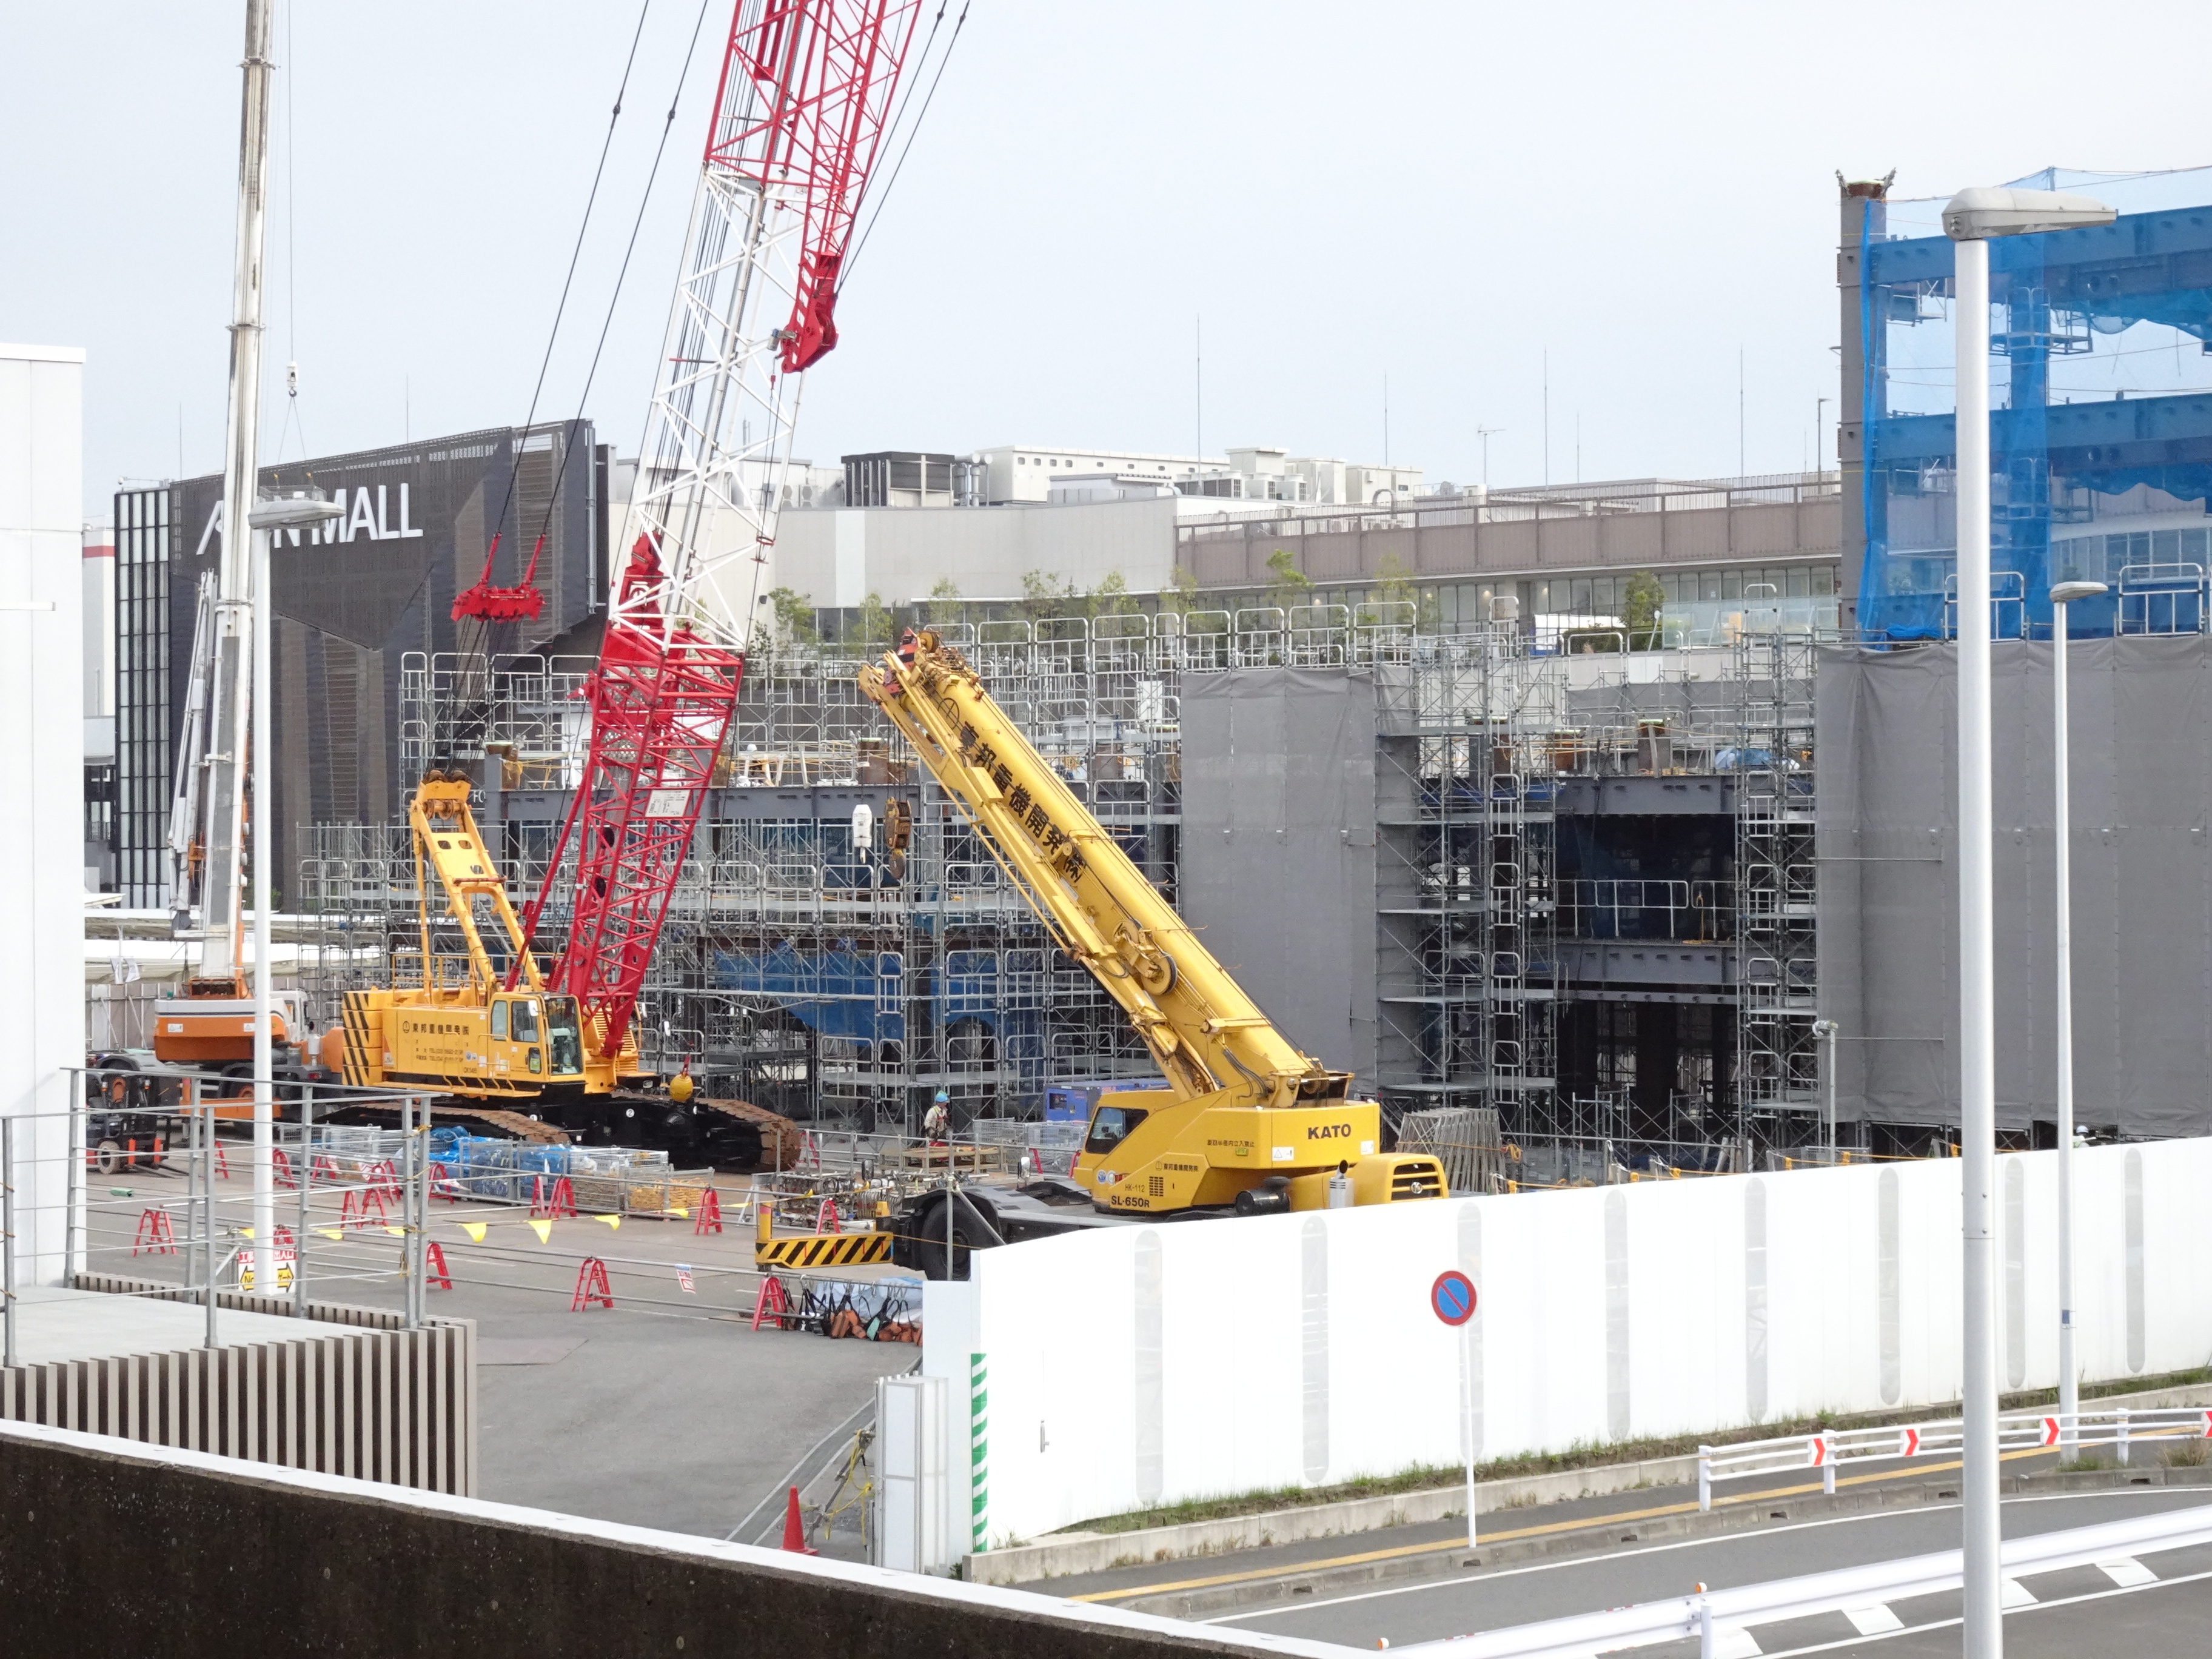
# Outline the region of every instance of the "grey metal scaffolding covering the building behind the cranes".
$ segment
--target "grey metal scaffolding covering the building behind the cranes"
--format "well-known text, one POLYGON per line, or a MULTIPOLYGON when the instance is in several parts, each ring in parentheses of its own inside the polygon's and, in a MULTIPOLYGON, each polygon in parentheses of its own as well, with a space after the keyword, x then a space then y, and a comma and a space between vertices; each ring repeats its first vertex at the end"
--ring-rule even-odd
MULTIPOLYGON (((1223 759, 1186 752, 1192 681, 1307 670, 1374 686, 1374 796, 1363 823, 1327 827, 1376 849, 1363 1084, 1394 1119, 1495 1113, 1524 1150, 1613 1144, 1621 1164, 1635 1148, 1692 1168, 1816 1144, 1812 630, 1761 626, 1754 597, 1728 641, 1575 657, 1537 655, 1509 624, 1447 633, 1411 613, 938 630, 1170 902, 1186 865, 1203 883, 1223 858, 1217 827, 1186 818, 1186 772, 1223 759)), ((748 659, 646 978, 648 1066, 867 1133, 918 1133, 938 1091, 960 1124, 1011 1126, 1042 1124, 1055 1088, 1155 1075, 1097 980, 860 697, 863 661, 794 641, 748 659)), ((591 670, 403 664, 409 787, 429 734, 469 719, 478 818, 522 894, 546 885, 564 785, 584 765, 575 692, 591 670)), ((301 989, 321 1029, 347 989, 420 982, 418 872, 403 823, 312 825, 305 847, 301 989)), ((551 883, 571 887, 573 874, 551 883)), ((538 938, 557 949, 564 922, 555 902, 538 938)), ((1471 1130, 1416 1126, 1436 1133, 1471 1130)))

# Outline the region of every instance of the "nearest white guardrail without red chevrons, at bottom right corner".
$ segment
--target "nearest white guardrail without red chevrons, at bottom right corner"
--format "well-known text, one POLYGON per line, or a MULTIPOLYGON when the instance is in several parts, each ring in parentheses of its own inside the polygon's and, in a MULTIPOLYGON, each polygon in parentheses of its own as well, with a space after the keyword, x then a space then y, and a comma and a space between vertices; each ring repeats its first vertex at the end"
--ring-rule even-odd
MULTIPOLYGON (((2150 1413, 2139 1411, 2137 1416, 2150 1413)), ((2205 1542, 2212 1542, 2212 1506, 2168 1509, 2157 1515, 2099 1522, 2064 1533, 2011 1537, 2004 1542, 2000 1571, 2004 1577, 2017 1579, 2068 1566, 2106 1566, 2108 1575, 2117 1571, 2115 1582, 2146 1582, 2148 1575, 2137 1579, 2141 1571, 2135 1566, 2137 1553, 2205 1542)), ((1447 1641, 1422 1641, 1405 1652, 1449 1655, 1449 1659, 1584 1659, 1584 1655, 1613 1652, 1615 1648, 1697 1639, 1699 1652, 1710 1657, 1743 1652, 1739 1632, 1752 1626, 1820 1613, 1865 1613, 1911 1595, 1958 1590, 1962 1584, 1962 1553, 1944 1551, 1900 1562, 1874 1562, 1871 1566, 1843 1566, 1772 1584, 1679 1595, 1608 1613, 1582 1613, 1544 1624, 1520 1624, 1506 1630, 1482 1630, 1447 1641)))

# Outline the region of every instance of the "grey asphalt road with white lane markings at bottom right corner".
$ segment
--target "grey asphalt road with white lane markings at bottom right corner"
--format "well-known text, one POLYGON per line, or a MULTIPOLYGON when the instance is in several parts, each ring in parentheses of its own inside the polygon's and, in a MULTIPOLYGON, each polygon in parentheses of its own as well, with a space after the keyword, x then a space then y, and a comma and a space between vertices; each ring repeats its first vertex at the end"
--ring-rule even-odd
MULTIPOLYGON (((2152 1486, 2013 1498, 2006 1500, 2002 1517, 2006 1537, 2028 1537, 2157 1509, 2194 1506, 2205 1506, 2201 1489, 2152 1486)), ((1473 1630, 1659 1601, 1686 1595, 1697 1584, 1710 1588, 1763 1584, 1838 1566, 1949 1551, 1958 1548, 1958 1526, 1955 1504, 1776 1522, 1772 1531, 1617 1546, 1601 1555, 1455 1573, 1442 1579, 1391 1584, 1336 1597, 1301 1597, 1296 1606, 1252 1608, 1206 1624, 1338 1641, 1367 1650, 1374 1650, 1378 1639, 1387 1639, 1389 1646, 1402 1648, 1473 1630)), ((2205 1637, 2212 1626, 2201 1624, 2212 1610, 2212 1579, 2192 1579, 2197 1573, 2212 1575, 2212 1546, 2139 1559, 2150 1571, 2152 1582, 2132 1588, 2119 1586, 2097 1568, 2066 1568, 2020 1579, 2035 1604, 2022 1604, 2008 1613, 2006 1650, 2013 1659, 2042 1652, 2095 1652, 2097 1659, 2126 1659, 2137 1652, 2179 1655, 2212 1648, 2212 1639, 2205 1637), (2172 1579, 2190 1582, 2174 1584, 2172 1579), (2130 1641, 2141 1646, 2112 1646, 2101 1635, 2106 1626, 2137 1630, 2139 1635, 2130 1641), (2079 1637, 2086 1628, 2099 1630, 2093 1646, 2079 1637)), ((1834 1613, 1818 1619, 1796 1619, 1790 1626, 1754 1628, 1750 1639, 1756 1648, 1734 1646, 1732 1652, 1820 1650, 1893 1659, 1920 1652, 1958 1652, 1958 1595, 1900 1601, 1891 1615, 1902 1626, 1891 1635, 1863 1637, 1851 1619, 1834 1613)), ((1674 1659, 1674 1655, 1694 1650, 1694 1644, 1663 1644, 1639 1652, 1674 1659)))

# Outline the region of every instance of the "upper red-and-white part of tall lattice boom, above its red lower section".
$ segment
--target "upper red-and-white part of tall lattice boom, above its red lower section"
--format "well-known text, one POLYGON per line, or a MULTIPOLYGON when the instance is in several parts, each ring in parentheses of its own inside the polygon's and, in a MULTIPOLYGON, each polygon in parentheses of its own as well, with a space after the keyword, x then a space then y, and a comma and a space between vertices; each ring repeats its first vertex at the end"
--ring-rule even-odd
POLYGON ((741 648, 792 460, 803 369, 832 310, 860 181, 920 0, 741 0, 692 199, 639 473, 617 546, 666 591, 615 619, 741 648))

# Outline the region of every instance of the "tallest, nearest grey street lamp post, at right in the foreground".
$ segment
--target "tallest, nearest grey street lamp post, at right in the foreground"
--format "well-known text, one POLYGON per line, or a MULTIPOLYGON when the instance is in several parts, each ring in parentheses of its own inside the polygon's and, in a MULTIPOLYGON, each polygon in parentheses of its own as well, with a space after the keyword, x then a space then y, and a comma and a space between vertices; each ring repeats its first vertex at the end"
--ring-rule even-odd
POLYGON ((1989 239, 2112 221, 2112 208, 2048 190, 1960 190, 1942 228, 1955 254, 1958 374, 1958 1029, 1962 1243, 1964 1659, 2000 1659, 1995 1172, 1997 1009, 1989 774, 1989 239))

